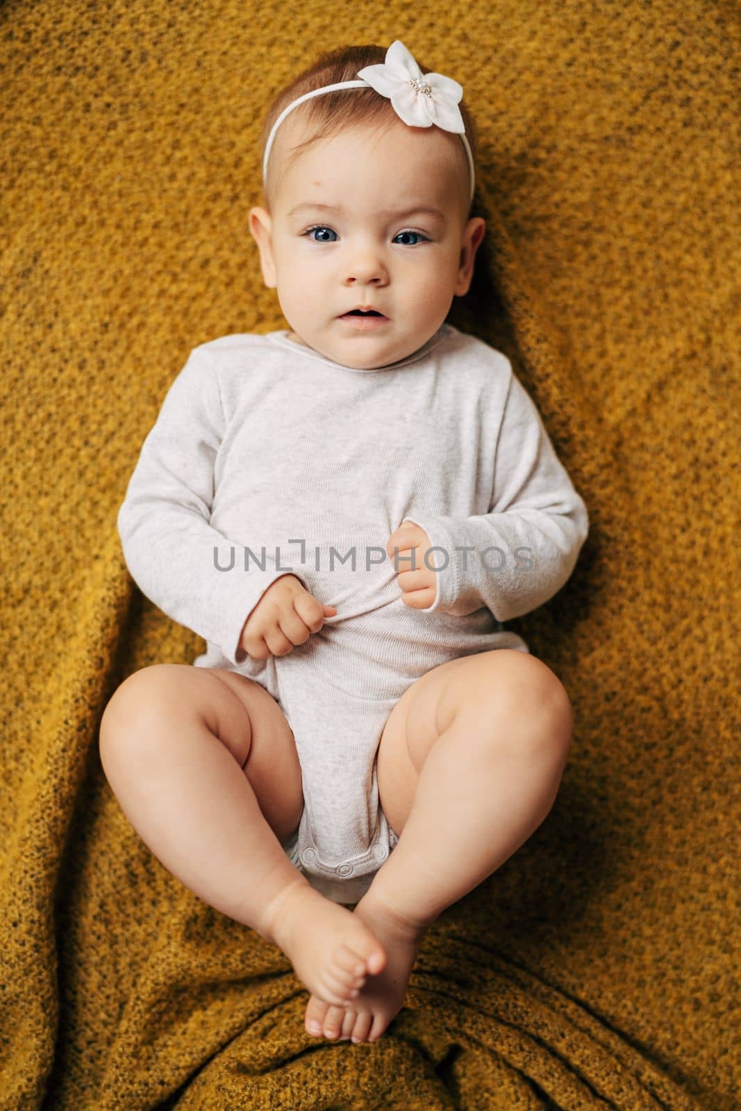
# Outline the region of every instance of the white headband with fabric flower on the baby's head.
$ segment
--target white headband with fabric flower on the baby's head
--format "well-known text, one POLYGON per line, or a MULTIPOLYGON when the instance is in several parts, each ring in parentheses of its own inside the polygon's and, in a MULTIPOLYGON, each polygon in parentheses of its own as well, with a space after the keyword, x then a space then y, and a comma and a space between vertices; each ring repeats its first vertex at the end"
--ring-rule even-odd
POLYGON ((473 200, 473 158, 471 148, 465 138, 465 124, 461 116, 458 102, 463 96, 463 88, 450 77, 442 73, 422 73, 419 66, 410 54, 403 42, 397 39, 391 43, 385 52, 385 61, 379 66, 366 66, 358 70, 361 81, 338 81, 336 84, 324 84, 321 89, 312 89, 304 92, 302 97, 292 100, 288 108, 284 108, 273 123, 266 153, 262 160, 262 181, 268 176, 268 159, 276 137, 276 131, 286 117, 298 104, 312 97, 319 97, 324 92, 333 92, 334 89, 375 89, 382 97, 388 97, 391 104, 404 123, 412 128, 429 128, 434 123, 443 131, 452 131, 460 136, 465 148, 465 157, 469 163, 469 177, 471 179, 470 200, 473 200))

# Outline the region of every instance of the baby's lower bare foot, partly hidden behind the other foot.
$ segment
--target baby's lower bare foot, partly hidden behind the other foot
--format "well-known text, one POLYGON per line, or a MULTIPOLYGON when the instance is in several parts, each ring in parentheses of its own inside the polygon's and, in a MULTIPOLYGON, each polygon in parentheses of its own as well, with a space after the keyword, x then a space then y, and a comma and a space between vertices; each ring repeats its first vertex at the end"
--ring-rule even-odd
POLYGON ((351 1038, 353 1042, 378 1041, 391 1019, 401 1010, 407 985, 427 927, 407 921, 373 901, 371 891, 360 900, 353 911, 356 918, 368 925, 387 952, 387 964, 377 974, 370 974, 357 998, 347 1003, 330 1002, 314 994, 306 1013, 307 1032, 314 1038, 351 1038), (312 1024, 319 1028, 312 1030, 312 1024))

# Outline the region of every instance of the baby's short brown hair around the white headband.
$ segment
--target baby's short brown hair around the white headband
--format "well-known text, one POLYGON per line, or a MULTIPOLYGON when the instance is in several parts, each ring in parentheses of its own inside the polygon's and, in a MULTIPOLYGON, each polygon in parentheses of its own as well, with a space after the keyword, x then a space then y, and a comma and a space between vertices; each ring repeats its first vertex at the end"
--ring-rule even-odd
MULTIPOLYGON (((384 47, 338 47, 336 50, 323 53, 313 66, 303 70, 290 84, 287 84, 276 93, 268 108, 260 134, 260 166, 262 167, 266 144, 272 126, 291 101, 304 92, 310 92, 312 89, 321 89, 326 84, 334 84, 338 81, 358 80, 358 70, 364 66, 383 64, 385 54, 384 47)), ((432 66, 425 66, 419 59, 417 61, 422 73, 435 72, 432 66)), ((475 123, 464 100, 461 100, 458 107, 465 124, 465 137, 471 148, 471 156, 473 158, 473 166, 477 168, 478 178, 477 157, 479 143, 475 123)), ((298 108, 294 108, 287 119, 299 113, 301 113, 301 118, 311 130, 311 136, 287 154, 284 161, 286 169, 311 143, 317 142, 319 139, 330 139, 348 127, 357 127, 363 123, 369 127, 380 127, 383 123, 399 122, 399 117, 389 98, 379 96, 370 87, 368 89, 337 89, 334 92, 326 92, 321 97, 312 97, 310 100, 299 104, 298 108)), ((468 163, 462 143, 460 147, 461 163, 464 167, 468 182, 468 163)), ((269 209, 271 208, 271 198, 274 197, 274 167, 271 157, 268 163, 268 180, 264 186, 266 202, 269 209)))

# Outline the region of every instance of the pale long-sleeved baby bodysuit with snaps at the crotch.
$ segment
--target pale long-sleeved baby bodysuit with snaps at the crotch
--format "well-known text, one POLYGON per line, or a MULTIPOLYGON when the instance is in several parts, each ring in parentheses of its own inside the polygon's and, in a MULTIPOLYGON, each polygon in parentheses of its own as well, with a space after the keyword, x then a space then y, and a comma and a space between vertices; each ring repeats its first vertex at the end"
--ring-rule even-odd
POLYGON ((194 348, 118 527, 141 591, 207 641, 196 667, 249 675, 282 708, 304 794, 283 849, 322 894, 352 903, 398 840, 375 772, 391 710, 447 660, 529 651, 502 622, 560 590, 589 524, 510 361, 444 323, 377 370, 286 330, 194 348), (402 602, 385 552, 404 519, 439 568, 424 610, 402 602), (253 660, 240 632, 288 571, 337 614, 287 655, 253 660))

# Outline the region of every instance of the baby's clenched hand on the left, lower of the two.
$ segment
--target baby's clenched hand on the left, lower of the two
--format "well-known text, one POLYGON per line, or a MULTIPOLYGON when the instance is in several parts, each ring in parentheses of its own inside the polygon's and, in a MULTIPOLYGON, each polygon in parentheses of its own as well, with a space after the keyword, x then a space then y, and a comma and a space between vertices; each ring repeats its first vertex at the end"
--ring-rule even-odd
POLYGON ((334 617, 334 605, 323 605, 294 574, 281 574, 270 583, 251 610, 239 638, 239 647, 253 660, 288 655, 319 632, 324 618, 334 617))

